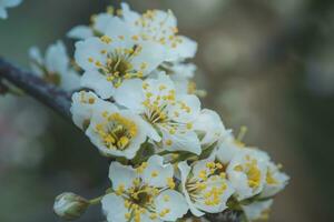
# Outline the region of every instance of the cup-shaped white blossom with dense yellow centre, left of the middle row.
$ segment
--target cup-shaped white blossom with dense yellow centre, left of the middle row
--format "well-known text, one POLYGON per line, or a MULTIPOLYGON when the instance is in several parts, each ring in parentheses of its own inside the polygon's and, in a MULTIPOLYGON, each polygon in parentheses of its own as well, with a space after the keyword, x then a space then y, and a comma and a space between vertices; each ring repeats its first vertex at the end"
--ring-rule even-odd
POLYGON ((86 134, 104 155, 126 159, 135 158, 147 137, 158 139, 139 115, 112 103, 95 108, 86 134))

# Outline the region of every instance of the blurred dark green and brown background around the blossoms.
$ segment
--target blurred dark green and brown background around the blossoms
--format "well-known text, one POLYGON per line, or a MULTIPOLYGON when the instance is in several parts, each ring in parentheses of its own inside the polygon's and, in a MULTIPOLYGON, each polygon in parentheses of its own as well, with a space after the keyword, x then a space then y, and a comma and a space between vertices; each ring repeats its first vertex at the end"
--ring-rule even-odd
MULTIPOLYGON (((334 1, 132 0, 139 11, 171 9, 180 32, 199 42, 196 82, 245 141, 282 162, 291 184, 272 222, 334 221, 334 1)), ((45 49, 88 23, 107 0, 26 0, 0 21, 0 54, 28 68, 45 49)), ((30 98, 0 98, 0 221, 59 221, 53 198, 87 198, 108 186, 108 165, 82 133, 30 98)), ((101 222, 99 206, 81 222, 101 222)))

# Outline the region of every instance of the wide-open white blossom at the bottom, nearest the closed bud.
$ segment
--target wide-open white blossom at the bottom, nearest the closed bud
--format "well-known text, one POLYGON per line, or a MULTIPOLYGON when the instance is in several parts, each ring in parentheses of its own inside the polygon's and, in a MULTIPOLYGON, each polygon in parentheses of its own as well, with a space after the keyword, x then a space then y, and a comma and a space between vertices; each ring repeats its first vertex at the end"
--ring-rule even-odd
POLYGON ((188 211, 185 198, 170 188, 174 170, 153 155, 137 169, 112 162, 109 178, 112 193, 102 199, 108 222, 176 221, 188 211))

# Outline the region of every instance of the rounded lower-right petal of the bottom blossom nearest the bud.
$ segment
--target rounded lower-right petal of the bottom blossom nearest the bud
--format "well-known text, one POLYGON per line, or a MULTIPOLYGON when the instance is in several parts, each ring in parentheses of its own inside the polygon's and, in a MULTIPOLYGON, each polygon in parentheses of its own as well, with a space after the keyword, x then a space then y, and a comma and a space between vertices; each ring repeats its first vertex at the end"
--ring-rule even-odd
POLYGON ((163 191, 155 199, 155 204, 157 213, 160 213, 165 209, 170 211, 165 216, 160 216, 164 221, 176 221, 177 219, 183 218, 189 209, 185 198, 174 190, 163 191))

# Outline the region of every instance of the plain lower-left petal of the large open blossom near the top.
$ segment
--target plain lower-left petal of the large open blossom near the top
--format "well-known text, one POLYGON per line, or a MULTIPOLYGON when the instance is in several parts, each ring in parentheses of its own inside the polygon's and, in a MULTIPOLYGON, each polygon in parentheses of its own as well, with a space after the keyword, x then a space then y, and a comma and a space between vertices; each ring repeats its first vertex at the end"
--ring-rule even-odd
POLYGON ((106 77, 98 71, 85 72, 81 77, 80 85, 92 89, 102 99, 109 99, 115 92, 114 84, 107 81, 106 77))

